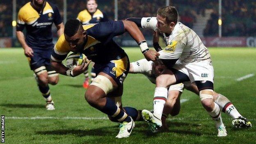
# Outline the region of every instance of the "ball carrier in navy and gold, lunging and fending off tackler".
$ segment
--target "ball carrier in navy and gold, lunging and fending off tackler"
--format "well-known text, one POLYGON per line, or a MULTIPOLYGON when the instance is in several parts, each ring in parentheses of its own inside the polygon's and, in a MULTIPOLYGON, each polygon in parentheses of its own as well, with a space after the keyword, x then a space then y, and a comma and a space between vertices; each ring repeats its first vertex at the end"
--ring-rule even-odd
POLYGON ((68 69, 62 64, 69 52, 80 52, 95 62, 96 78, 85 92, 86 101, 110 117, 111 121, 122 123, 117 138, 129 137, 135 124, 130 117, 138 115, 135 108, 122 108, 123 81, 128 74, 128 56, 113 37, 128 32, 138 43, 148 60, 155 61, 158 53, 149 50, 144 36, 137 25, 131 21, 107 21, 95 25, 82 26, 78 20, 65 24, 64 34, 58 39, 51 55, 51 65, 62 75, 77 76, 84 72, 89 63, 68 69))

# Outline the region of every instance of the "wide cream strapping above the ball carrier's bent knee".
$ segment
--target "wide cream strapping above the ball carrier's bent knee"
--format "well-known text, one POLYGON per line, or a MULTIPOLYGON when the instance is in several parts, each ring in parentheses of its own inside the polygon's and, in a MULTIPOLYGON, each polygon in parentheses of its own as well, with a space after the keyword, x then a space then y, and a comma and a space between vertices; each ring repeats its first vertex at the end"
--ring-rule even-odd
POLYGON ((91 82, 91 85, 101 88, 105 94, 108 94, 114 89, 112 82, 103 75, 97 75, 97 77, 91 82))

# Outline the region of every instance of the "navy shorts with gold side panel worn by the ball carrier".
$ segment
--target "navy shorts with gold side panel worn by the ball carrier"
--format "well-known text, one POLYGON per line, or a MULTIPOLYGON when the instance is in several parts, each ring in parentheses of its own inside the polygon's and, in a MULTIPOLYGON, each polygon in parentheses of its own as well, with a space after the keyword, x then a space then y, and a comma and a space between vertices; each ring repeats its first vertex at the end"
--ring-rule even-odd
POLYGON ((112 60, 107 64, 94 64, 94 71, 96 76, 98 73, 103 72, 110 75, 117 85, 123 85, 123 81, 126 78, 130 69, 130 61, 128 57, 123 57, 122 59, 112 60))

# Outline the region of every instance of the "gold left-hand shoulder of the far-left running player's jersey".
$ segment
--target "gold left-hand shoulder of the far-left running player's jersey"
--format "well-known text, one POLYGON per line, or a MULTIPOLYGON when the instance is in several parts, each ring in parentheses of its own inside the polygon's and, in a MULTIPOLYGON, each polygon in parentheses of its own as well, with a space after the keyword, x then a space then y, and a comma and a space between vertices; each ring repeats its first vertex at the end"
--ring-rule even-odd
POLYGON ((30 5, 30 2, 27 2, 26 5, 21 7, 20 11, 18 12, 18 23, 19 24, 27 24, 31 25, 37 21, 39 18, 38 12, 30 5))

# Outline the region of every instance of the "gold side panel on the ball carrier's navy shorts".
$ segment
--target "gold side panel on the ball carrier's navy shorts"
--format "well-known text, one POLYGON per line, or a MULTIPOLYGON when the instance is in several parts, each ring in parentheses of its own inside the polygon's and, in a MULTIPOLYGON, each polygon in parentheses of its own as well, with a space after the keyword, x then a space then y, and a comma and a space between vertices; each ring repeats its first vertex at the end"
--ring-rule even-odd
POLYGON ((122 59, 118 59, 118 60, 112 60, 111 62, 114 62, 115 64, 115 67, 112 69, 112 71, 116 73, 116 77, 119 77, 124 72, 126 72, 126 69, 128 67, 127 57, 123 57, 122 59))

